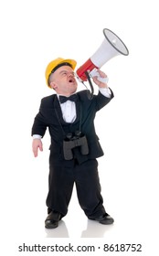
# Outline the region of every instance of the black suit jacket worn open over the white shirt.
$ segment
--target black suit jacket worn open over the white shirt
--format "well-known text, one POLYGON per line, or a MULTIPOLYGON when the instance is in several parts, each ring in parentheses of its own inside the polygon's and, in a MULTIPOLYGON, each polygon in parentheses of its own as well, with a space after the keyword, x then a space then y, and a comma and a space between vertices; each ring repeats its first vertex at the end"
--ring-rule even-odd
POLYGON ((95 132, 94 118, 96 112, 100 111, 102 107, 111 101, 113 92, 111 91, 111 98, 107 98, 99 91, 98 95, 93 95, 92 100, 89 100, 86 90, 77 92, 77 95, 77 118, 74 123, 66 123, 63 120, 56 94, 41 100, 39 112, 35 117, 32 127, 32 135, 40 134, 43 137, 48 128, 51 137, 50 154, 51 158, 54 159, 54 163, 65 161, 63 141, 65 140, 67 133, 73 133, 77 130, 80 130, 82 134, 86 135, 89 145, 88 155, 81 155, 80 148, 76 148, 76 158, 79 163, 103 155, 99 137, 95 132))

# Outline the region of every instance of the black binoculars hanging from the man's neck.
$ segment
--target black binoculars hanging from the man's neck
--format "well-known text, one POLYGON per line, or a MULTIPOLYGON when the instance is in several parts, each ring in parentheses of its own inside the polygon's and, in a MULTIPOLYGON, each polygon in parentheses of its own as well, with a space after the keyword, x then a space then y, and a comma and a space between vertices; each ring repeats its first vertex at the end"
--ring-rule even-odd
POLYGON ((63 141, 63 152, 65 160, 73 159, 72 149, 75 147, 80 147, 81 155, 89 154, 87 138, 79 131, 76 131, 75 133, 68 133, 66 135, 66 139, 63 141))

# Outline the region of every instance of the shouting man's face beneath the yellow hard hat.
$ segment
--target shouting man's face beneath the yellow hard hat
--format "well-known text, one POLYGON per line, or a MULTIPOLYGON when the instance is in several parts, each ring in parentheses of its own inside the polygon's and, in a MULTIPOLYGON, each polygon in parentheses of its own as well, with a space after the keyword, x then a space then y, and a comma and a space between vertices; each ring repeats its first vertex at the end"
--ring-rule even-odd
POLYGON ((52 75, 50 86, 58 94, 69 96, 77 91, 78 83, 74 77, 73 69, 69 66, 61 66, 52 75))

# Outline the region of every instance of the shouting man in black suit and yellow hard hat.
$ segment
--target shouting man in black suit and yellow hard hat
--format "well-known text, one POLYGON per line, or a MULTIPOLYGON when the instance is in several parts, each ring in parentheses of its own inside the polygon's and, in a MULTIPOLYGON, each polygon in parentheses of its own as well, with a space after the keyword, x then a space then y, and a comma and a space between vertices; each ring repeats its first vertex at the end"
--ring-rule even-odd
MULTIPOLYGON (((96 160, 103 151, 94 127, 96 112, 111 101, 113 93, 97 77, 93 81, 99 87, 98 95, 90 100, 87 90, 76 92, 75 67, 73 59, 58 58, 48 64, 47 84, 56 93, 42 99, 32 127, 35 157, 38 149, 43 150, 41 138, 47 128, 51 138, 47 229, 57 228, 58 221, 66 216, 74 184, 88 219, 105 225, 114 221, 103 207, 96 160)), ((99 74, 106 77, 101 70, 99 74)))

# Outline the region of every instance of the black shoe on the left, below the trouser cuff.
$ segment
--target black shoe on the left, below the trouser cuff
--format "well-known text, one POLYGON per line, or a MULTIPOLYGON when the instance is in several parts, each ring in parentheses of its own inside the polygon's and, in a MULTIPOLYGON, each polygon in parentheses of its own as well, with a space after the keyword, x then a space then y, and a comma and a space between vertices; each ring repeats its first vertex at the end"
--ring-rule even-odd
POLYGON ((56 229, 58 228, 58 221, 61 219, 60 213, 57 211, 51 211, 48 214, 47 219, 45 220, 45 228, 46 229, 56 229))

